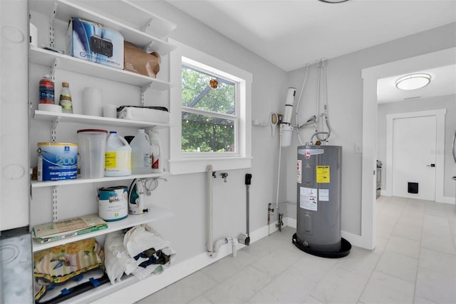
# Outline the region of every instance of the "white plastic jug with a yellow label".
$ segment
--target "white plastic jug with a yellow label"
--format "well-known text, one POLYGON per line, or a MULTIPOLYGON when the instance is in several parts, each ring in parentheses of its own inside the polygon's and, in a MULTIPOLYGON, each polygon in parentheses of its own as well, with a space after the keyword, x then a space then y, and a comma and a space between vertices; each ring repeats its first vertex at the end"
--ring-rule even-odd
POLYGON ((106 138, 105 176, 131 175, 131 148, 125 138, 110 131, 106 138))

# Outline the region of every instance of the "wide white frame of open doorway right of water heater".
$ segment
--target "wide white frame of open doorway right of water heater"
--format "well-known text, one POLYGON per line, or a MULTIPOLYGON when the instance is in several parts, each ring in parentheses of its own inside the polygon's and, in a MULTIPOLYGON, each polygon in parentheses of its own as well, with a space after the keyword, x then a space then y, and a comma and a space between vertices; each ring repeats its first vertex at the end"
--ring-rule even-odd
POLYGON ((456 48, 363 69, 363 160, 361 170, 360 246, 375 249, 375 182, 377 167, 377 81, 423 69, 456 64, 456 48))

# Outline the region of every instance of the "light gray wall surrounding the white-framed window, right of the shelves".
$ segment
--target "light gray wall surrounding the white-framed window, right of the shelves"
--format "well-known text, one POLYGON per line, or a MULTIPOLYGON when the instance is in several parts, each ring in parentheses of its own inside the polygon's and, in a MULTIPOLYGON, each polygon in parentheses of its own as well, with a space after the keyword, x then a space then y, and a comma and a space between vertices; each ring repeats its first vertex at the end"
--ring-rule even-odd
MULTIPOLYGON (((284 71, 164 1, 136 3, 177 24, 177 29, 170 38, 252 73, 252 119, 266 120, 270 111, 281 111, 287 88, 284 71)), ((164 61, 166 60, 165 58, 164 61)), ((162 70, 167 70, 167 67, 164 66, 162 70)), ((239 233, 246 231, 245 173, 252 173, 250 231, 266 226, 268 203, 275 201, 276 196, 278 133, 276 130, 275 137, 271 138, 270 128, 253 126, 252 168, 227 171, 227 183, 224 183, 217 172, 217 178, 213 179, 214 239, 225 235, 237 237, 239 233)), ((169 143, 162 142, 162 145, 168 146, 169 143)), ((164 238, 170 240, 177 251, 176 262, 180 262, 205 251, 206 176, 205 173, 197 173, 171 176, 167 179, 167 183, 160 182, 159 188, 149 199, 154 204, 174 211, 176 215, 154 223, 153 226, 164 238)))

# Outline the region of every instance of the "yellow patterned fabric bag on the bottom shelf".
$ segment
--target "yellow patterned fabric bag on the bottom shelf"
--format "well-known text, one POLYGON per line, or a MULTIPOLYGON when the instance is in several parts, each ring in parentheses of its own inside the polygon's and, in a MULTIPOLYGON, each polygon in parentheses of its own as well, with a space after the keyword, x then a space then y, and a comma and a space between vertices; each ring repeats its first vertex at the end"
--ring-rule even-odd
POLYGON ((103 248, 95 238, 58 245, 34 253, 35 300, 43 298, 43 295, 56 285, 66 284, 69 280, 77 279, 92 270, 103 269, 103 260, 103 248))

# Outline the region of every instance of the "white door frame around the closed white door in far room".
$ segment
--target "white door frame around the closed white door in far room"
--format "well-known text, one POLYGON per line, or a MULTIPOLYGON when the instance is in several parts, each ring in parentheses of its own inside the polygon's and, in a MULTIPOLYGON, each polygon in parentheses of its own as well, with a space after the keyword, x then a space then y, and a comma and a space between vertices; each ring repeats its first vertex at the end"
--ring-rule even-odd
POLYGON ((445 150, 445 114, 446 108, 429 111, 417 111, 407 113, 388 114, 386 116, 386 172, 385 172, 385 191, 382 191, 385 196, 393 195, 393 121, 400 118, 414 118, 435 116, 436 130, 435 130, 435 201, 443 203, 444 200, 444 173, 445 173, 445 153, 438 153, 438 151, 445 150))

